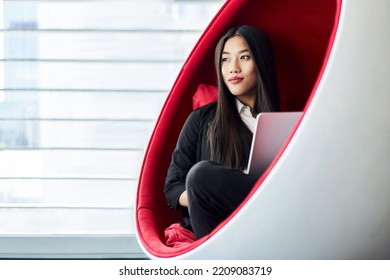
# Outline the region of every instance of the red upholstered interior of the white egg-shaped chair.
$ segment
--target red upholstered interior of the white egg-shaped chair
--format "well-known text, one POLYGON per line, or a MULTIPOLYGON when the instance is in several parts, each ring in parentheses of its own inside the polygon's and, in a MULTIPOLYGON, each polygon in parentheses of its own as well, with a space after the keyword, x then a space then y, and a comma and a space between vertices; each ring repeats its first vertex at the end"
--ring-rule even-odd
POLYGON ((200 84, 216 84, 214 47, 235 25, 249 24, 270 36, 277 62, 281 107, 304 110, 326 63, 341 0, 231 0, 226 1, 185 62, 166 100, 150 139, 136 201, 136 230, 153 256, 178 256, 208 236, 182 248, 164 244, 164 229, 177 222, 163 194, 172 151, 181 127, 192 111, 192 96, 200 84))

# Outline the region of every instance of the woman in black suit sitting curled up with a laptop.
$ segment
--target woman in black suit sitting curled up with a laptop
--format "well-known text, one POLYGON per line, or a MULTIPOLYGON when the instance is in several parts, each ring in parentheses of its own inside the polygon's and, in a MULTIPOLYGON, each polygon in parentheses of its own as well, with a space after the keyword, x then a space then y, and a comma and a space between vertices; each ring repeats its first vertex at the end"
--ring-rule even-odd
POLYGON ((243 171, 258 113, 279 110, 271 42, 252 26, 230 29, 215 50, 218 101, 188 117, 165 183, 168 205, 197 239, 245 199, 258 179, 243 171))

